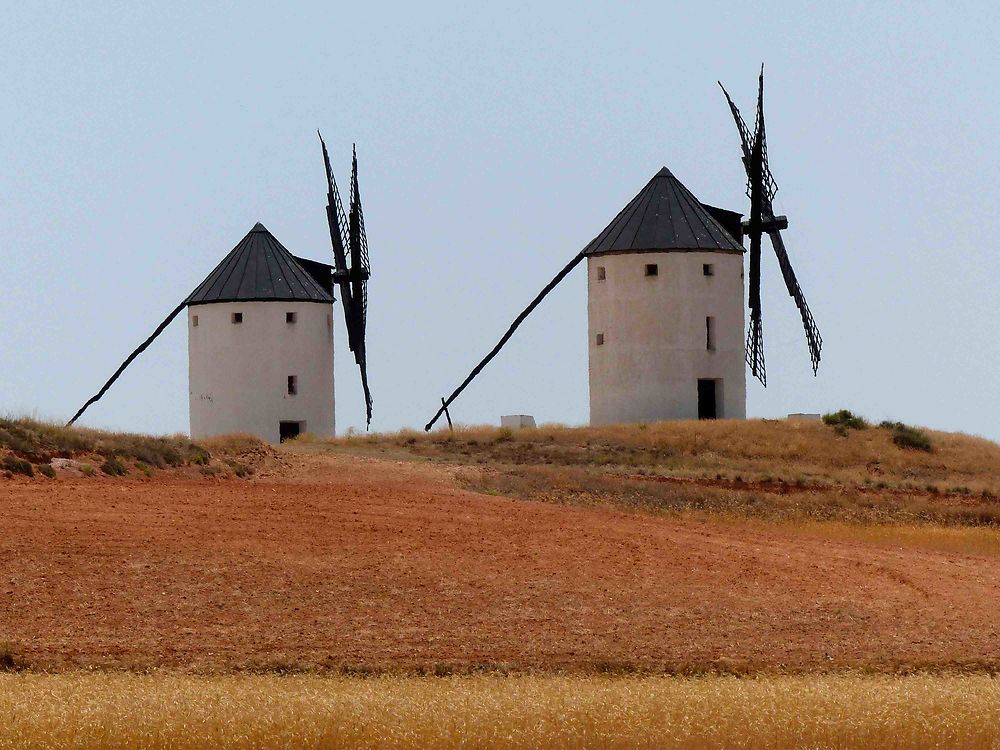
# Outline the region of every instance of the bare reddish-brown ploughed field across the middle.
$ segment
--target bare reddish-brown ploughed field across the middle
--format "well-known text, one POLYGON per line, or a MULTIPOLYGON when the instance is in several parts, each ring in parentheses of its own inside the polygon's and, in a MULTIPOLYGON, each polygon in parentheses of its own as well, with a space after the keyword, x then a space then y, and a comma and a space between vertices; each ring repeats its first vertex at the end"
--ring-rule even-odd
POLYGON ((252 481, 0 480, 0 642, 53 669, 1000 666, 995 557, 289 461, 252 481))

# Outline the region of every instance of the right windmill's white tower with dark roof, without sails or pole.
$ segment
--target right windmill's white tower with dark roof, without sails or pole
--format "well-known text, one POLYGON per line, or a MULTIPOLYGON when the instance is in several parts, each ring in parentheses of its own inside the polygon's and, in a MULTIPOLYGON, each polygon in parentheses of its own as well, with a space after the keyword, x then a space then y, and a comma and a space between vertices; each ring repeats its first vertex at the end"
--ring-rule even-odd
POLYGON ((739 219, 664 167, 587 246, 591 424, 746 417, 739 219))

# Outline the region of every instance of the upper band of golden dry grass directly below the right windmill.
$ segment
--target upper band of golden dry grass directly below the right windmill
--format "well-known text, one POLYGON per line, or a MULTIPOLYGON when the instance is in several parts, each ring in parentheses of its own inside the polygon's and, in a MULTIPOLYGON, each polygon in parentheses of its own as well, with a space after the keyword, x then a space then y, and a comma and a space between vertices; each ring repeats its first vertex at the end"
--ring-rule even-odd
POLYGON ((907 450, 889 429, 841 437, 815 422, 784 420, 657 422, 536 430, 462 427, 454 433, 404 430, 349 435, 328 443, 353 451, 404 450, 466 463, 557 464, 659 469, 676 476, 737 476, 833 485, 882 483, 1000 496, 1000 445, 928 431, 931 452, 907 450))

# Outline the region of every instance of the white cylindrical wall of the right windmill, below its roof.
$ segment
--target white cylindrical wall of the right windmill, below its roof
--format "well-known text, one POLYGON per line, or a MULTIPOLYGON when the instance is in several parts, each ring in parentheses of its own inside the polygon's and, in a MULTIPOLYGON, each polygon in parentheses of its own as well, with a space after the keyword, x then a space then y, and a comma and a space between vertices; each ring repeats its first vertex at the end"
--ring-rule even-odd
POLYGON ((722 381, 720 418, 746 417, 741 254, 591 257, 587 278, 591 424, 697 419, 701 378, 722 381), (656 276, 645 275, 647 263, 657 265, 656 276), (704 275, 705 263, 713 276, 704 275), (706 348, 708 316, 714 351, 706 348))

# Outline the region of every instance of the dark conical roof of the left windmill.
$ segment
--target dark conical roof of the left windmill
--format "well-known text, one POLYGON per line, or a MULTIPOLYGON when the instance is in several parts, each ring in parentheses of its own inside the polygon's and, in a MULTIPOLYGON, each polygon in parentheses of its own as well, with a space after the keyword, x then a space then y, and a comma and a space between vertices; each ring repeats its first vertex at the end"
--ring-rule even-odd
POLYGON ((189 305, 254 301, 333 302, 260 222, 187 299, 189 305))

